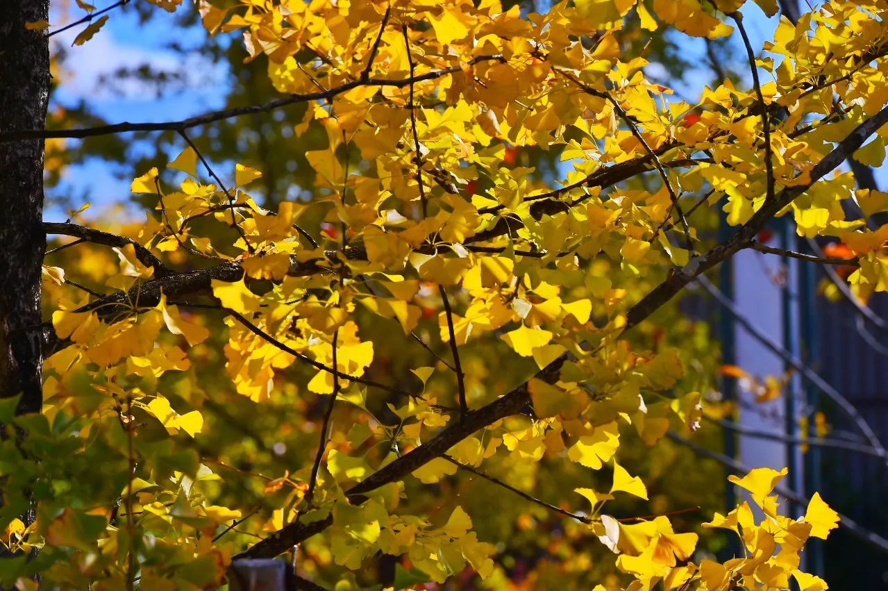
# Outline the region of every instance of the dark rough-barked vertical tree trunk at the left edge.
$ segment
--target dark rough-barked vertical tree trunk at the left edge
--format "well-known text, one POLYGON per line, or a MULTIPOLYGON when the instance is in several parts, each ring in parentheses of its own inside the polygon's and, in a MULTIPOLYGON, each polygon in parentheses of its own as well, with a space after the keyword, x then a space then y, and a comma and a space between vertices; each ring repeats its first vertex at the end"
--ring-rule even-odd
MULTIPOLYGON (((50 87, 48 0, 3 0, 0 10, 0 131, 43 129, 50 87)), ((0 143, 0 396, 21 394, 18 413, 39 412, 40 275, 44 141, 0 143)))

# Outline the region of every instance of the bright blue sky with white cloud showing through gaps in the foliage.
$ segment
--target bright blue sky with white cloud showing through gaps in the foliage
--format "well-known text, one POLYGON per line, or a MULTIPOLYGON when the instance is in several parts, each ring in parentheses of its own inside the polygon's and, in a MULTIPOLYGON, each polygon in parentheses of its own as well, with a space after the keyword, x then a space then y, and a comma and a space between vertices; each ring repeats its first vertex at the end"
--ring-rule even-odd
MULTIPOLYGON (((98 8, 104 5, 107 3, 98 5, 98 8)), ((159 8, 155 10, 155 16, 144 24, 139 23, 137 14, 127 8, 124 6, 108 12, 109 19, 105 27, 88 43, 81 46, 71 46, 81 28, 73 28, 52 37, 53 43, 67 48, 66 69, 70 72, 59 92, 53 94, 53 103, 71 105, 84 100, 111 123, 166 121, 221 108, 228 84, 226 65, 202 60, 197 55, 186 58, 186 69, 193 75, 186 81, 182 92, 156 97, 155 92, 144 84, 135 82, 123 84, 122 88, 117 89, 120 92, 113 92, 99 84, 102 75, 110 75, 121 67, 131 68, 142 63, 152 64, 155 68, 176 67, 182 59, 182 54, 165 49, 165 45, 170 41, 178 41, 179 44, 187 46, 195 44, 205 35, 202 28, 190 30, 178 28, 174 23, 174 16, 159 8)), ((186 3, 179 6, 178 10, 195 9, 191 3, 186 3)), ((753 47, 760 48, 766 39, 771 38, 778 17, 767 19, 752 3, 748 3, 743 12, 746 15, 744 24, 753 47)), ((56 8, 52 12, 52 27, 59 27, 73 20, 72 17, 76 19, 82 15, 83 12, 74 7, 65 20, 66 15, 56 8)), ((681 36, 675 32, 672 34, 681 36)), ((682 37, 682 44, 686 46, 687 52, 699 56, 701 67, 689 72, 683 83, 670 82, 683 95, 693 98, 703 84, 710 83, 712 74, 707 66, 702 40, 682 37)), ((739 36, 733 35, 731 41, 737 49, 735 54, 738 59, 742 58, 745 54, 739 36)), ((736 69, 743 67, 745 60, 744 64, 736 69)), ((662 68, 660 69, 662 71, 662 68)), ((657 74, 655 64, 649 68, 649 74, 659 77, 655 76, 657 74)), ((768 79, 766 76, 769 75, 764 74, 764 76, 766 81, 768 79)), ((72 141, 70 145, 75 144, 72 141)), ((169 156, 171 160, 176 155, 169 156)), ((138 176, 141 172, 144 171, 133 170, 128 174, 132 177, 138 176)), ((879 171, 877 179, 880 181, 880 186, 888 186, 888 175, 884 172, 879 171)), ((124 202, 129 195, 129 182, 119 179, 108 164, 94 159, 70 166, 63 182, 59 187, 49 190, 48 195, 69 196, 74 201, 75 208, 86 200, 83 196, 88 195, 92 211, 98 213, 108 204, 124 202)), ((51 206, 47 208, 44 217, 46 220, 64 220, 66 213, 64 208, 51 206)))

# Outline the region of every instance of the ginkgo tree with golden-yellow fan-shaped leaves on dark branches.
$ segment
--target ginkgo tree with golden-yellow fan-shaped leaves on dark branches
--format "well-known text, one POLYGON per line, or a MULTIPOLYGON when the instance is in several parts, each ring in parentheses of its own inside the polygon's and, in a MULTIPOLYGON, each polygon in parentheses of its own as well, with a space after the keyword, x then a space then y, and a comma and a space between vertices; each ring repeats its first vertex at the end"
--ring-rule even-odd
MULTIPOLYGON (((477 524, 526 506, 564 539, 548 560, 563 568, 536 588, 827 588, 800 553, 838 515, 817 494, 803 515, 781 511, 785 470, 731 476, 748 499, 702 530, 625 503, 650 496, 638 443, 694 436, 707 411, 686 373, 694 345, 657 336, 689 284, 790 216, 800 236, 841 239, 850 257, 819 262, 852 266, 858 297, 888 291, 888 226, 867 224, 888 195, 855 193, 842 172, 851 156, 884 158, 883 4, 823 3, 757 48, 739 11, 771 15, 773 0, 573 0, 544 14, 494 0, 152 0, 242 35, 280 97, 60 130, 44 129, 47 4, 12 4, 0 584, 210 589, 233 561, 289 553, 299 588, 510 588, 515 540, 477 524), (750 83, 679 100, 622 51, 625 28, 739 36, 750 83), (326 145, 305 152, 307 197, 274 210, 253 193, 262 171, 225 171, 193 139, 297 104, 285 125, 326 145), (124 132, 181 140, 165 167, 133 175, 145 221, 42 222, 42 140, 124 132), (522 148, 557 153, 564 178, 517 164, 522 148), (44 257, 47 235, 67 239, 44 257), (559 478, 545 499, 543 464, 559 478), (463 494, 475 479, 496 496, 463 494), (718 529, 737 548, 723 561, 698 547, 718 529)), ((84 19, 77 42, 109 14, 84 19)))

